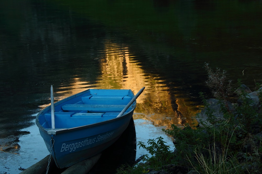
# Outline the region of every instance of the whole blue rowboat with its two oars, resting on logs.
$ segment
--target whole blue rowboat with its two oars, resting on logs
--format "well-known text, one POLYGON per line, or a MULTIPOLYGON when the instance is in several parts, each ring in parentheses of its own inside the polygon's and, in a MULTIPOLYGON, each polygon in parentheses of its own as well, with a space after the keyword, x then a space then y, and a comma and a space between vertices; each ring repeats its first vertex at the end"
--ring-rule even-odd
POLYGON ((43 109, 36 125, 59 168, 100 153, 127 128, 136 107, 131 90, 88 89, 43 109))

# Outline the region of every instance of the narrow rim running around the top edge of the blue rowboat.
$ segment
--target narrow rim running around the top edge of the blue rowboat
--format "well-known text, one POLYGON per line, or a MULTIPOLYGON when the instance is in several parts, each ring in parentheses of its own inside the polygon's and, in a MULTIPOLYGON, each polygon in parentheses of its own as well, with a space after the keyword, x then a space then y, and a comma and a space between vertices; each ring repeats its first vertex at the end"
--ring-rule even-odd
MULTIPOLYGON (((110 89, 109 89, 110 90, 110 89)), ((116 89, 117 90, 117 89, 116 89)), ((118 90, 121 90, 121 89, 118 89, 118 90)), ((126 90, 128 90, 128 89, 126 89, 126 90)), ((130 89, 129 89, 130 90, 130 89)), ((66 98, 64 98, 64 99, 62 99, 62 100, 59 100, 59 101, 57 101, 57 102, 55 102, 54 103, 54 107, 55 106, 57 106, 57 105, 59 105, 59 104, 61 104, 61 103, 63 103, 63 102, 65 102, 65 101, 68 101, 68 100, 70 100, 70 99, 72 99, 72 98, 75 98, 75 97, 78 97, 78 96, 80 96, 80 95, 83 95, 83 94, 85 94, 85 93, 87 93, 87 92, 89 92, 90 91, 90 89, 87 89, 87 90, 84 90, 84 91, 82 91, 82 92, 79 92, 79 93, 77 93, 77 94, 74 94, 74 95, 71 95, 71 96, 69 96, 69 97, 66 97, 66 98)), ((132 91, 131 91, 132 92, 132 91)), ((133 96, 132 97, 134 97, 134 93, 132 92, 132 94, 133 94, 133 96)), ((130 112, 133 112, 134 111, 134 109, 135 109, 135 107, 136 107, 136 104, 137 104, 137 102, 136 102, 136 100, 134 101, 134 106, 132 107, 132 109, 129 111, 129 112, 127 112, 127 113, 124 113, 123 115, 121 115, 120 117, 116 117, 116 118, 113 118, 113 119, 110 119, 110 120, 105 120, 105 121, 101 121, 101 122, 99 122, 99 123, 93 123, 93 124, 89 124, 89 125, 84 125, 84 126, 78 126, 78 127, 72 127, 72 128, 58 128, 58 129, 52 129, 52 128, 44 128, 40 123, 39 123, 39 116, 40 115, 43 115, 42 113, 43 112, 46 112, 46 111, 48 111, 48 110, 51 110, 51 105, 50 106, 47 106, 46 108, 44 108, 42 111, 40 111, 38 114, 37 114, 37 116, 36 116, 36 125, 37 125, 37 127, 39 127, 39 128, 41 128, 43 131, 45 131, 47 134, 50 134, 50 135, 56 135, 56 134, 61 134, 61 133, 65 133, 65 132, 72 132, 72 131, 76 131, 76 130, 81 130, 81 129, 86 129, 86 128, 89 128, 89 127, 94 127, 94 126, 99 126, 99 125, 101 125, 101 124, 106 124, 106 123, 110 123, 110 122, 112 122, 112 121, 116 121, 116 120, 119 120, 119 119, 122 119, 123 117, 126 117, 126 116, 128 116, 129 114, 130 114, 130 112)))

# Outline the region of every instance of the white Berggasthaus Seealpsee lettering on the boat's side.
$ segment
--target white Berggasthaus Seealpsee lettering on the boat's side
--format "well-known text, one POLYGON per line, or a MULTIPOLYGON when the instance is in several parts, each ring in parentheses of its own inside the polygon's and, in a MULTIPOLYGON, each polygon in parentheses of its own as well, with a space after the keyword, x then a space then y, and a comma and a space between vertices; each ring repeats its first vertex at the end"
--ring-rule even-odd
POLYGON ((105 139, 111 137, 113 134, 114 134, 114 132, 111 132, 111 133, 106 132, 105 135, 101 136, 99 134, 95 138, 91 138, 91 139, 86 138, 84 141, 80 141, 80 142, 76 142, 76 143, 72 143, 72 144, 63 143, 60 152, 64 152, 64 151, 68 151, 68 150, 70 150, 69 152, 75 151, 79 147, 83 147, 83 146, 92 144, 94 142, 99 142, 101 140, 105 140, 105 139))

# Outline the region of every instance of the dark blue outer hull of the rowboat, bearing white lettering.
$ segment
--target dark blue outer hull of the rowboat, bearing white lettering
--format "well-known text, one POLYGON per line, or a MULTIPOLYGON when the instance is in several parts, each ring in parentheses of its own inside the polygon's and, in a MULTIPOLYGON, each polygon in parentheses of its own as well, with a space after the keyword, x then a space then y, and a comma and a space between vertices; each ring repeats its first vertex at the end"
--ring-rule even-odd
MULTIPOLYGON (((79 96, 83 97, 83 95, 84 94, 81 94, 79 96)), ((65 103, 70 103, 70 100, 75 100, 74 98, 75 97, 71 97, 69 100, 67 98, 64 99, 64 101, 61 100, 55 103, 56 111, 65 103)), ((36 124, 39 127, 40 135, 43 137, 47 149, 49 151, 52 150, 52 156, 57 167, 69 167, 102 152, 112 145, 129 125, 130 119, 133 116, 135 104, 136 103, 134 103, 134 106, 121 117, 78 127, 61 127, 58 129, 45 127, 45 125, 48 124, 46 124, 44 117, 47 119, 47 113, 50 112, 50 107, 47 107, 37 115, 36 124), (51 142, 53 142, 52 149, 51 142)), ((61 114, 61 112, 62 110, 58 113, 61 114)), ((71 112, 72 111, 68 113, 71 112)), ((65 114, 67 113, 63 113, 63 115, 65 114)), ((70 118, 72 118, 72 114, 70 118)))

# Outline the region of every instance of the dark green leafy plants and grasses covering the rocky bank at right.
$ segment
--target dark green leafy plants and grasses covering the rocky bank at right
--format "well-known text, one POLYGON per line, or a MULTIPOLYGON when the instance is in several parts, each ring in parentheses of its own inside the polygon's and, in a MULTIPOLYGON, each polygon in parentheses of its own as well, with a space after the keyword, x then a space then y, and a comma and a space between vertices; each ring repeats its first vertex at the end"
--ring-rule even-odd
MULTIPOLYGON (((174 152, 162 137, 148 140, 148 146, 139 142, 139 148, 146 149, 152 157, 145 155, 147 162, 129 167, 129 173, 146 173, 152 168, 162 170, 167 164, 197 173, 262 173, 261 85, 256 86, 259 102, 254 103, 250 95, 241 91, 237 93, 238 102, 231 105, 227 99, 233 94, 230 94, 231 81, 226 81, 226 71, 219 68, 213 71, 207 63, 205 68, 206 84, 216 99, 206 100, 200 93, 205 108, 197 117, 206 117, 199 119, 201 126, 185 124, 181 128, 172 124, 171 129, 163 130, 174 137, 174 152)), ((238 83, 241 85, 240 80, 238 83)))

